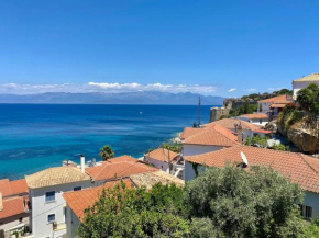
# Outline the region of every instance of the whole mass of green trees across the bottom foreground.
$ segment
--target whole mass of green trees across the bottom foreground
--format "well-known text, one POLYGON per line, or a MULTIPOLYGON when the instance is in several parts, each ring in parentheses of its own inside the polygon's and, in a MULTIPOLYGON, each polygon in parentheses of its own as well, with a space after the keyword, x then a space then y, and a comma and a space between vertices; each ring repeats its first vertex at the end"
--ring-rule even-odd
MULTIPOLYGON (((270 168, 210 168, 186 184, 107 189, 79 237, 305 237, 301 189, 270 168)), ((315 229, 308 233, 315 234, 315 229)))

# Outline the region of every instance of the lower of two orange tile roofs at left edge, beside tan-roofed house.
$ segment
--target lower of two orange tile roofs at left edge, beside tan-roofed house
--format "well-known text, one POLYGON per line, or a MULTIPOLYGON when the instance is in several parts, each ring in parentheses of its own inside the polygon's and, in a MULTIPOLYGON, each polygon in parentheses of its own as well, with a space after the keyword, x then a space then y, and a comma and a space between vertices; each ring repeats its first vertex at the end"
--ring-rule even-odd
POLYGON ((0 211, 0 220, 19 214, 24 214, 24 199, 22 196, 12 196, 3 199, 3 208, 0 211))

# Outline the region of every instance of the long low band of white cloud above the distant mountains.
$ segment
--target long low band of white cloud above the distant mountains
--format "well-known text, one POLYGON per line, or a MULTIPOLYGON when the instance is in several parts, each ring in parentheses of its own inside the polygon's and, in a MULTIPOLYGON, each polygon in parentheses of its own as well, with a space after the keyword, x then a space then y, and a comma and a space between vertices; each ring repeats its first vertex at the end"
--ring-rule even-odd
POLYGON ((162 84, 160 82, 141 84, 119 83, 119 82, 88 82, 86 84, 19 84, 3 83, 0 84, 0 93, 13 94, 34 94, 45 92, 136 92, 136 91, 163 91, 163 92, 194 92, 201 94, 211 94, 217 90, 216 86, 199 86, 199 84, 162 84))

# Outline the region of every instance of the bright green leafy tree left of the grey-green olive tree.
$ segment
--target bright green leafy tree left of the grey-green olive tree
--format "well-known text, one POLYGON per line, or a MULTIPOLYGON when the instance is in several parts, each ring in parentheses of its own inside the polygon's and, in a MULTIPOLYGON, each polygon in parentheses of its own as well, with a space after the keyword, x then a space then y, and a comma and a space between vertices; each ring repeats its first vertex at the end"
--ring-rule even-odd
POLYGON ((190 237, 189 222, 183 218, 183 189, 154 185, 127 189, 124 183, 105 190, 86 211, 78 235, 100 237, 190 237))

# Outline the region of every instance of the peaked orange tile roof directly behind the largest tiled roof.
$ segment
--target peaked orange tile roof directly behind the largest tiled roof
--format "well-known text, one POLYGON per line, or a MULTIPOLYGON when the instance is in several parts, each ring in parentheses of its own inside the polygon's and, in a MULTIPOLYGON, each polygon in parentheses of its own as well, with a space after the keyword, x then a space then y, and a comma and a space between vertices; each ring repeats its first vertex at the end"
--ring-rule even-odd
POLYGON ((198 128, 198 131, 201 132, 186 137, 183 144, 221 147, 239 145, 238 137, 231 131, 220 125, 213 124, 208 128, 198 128))

